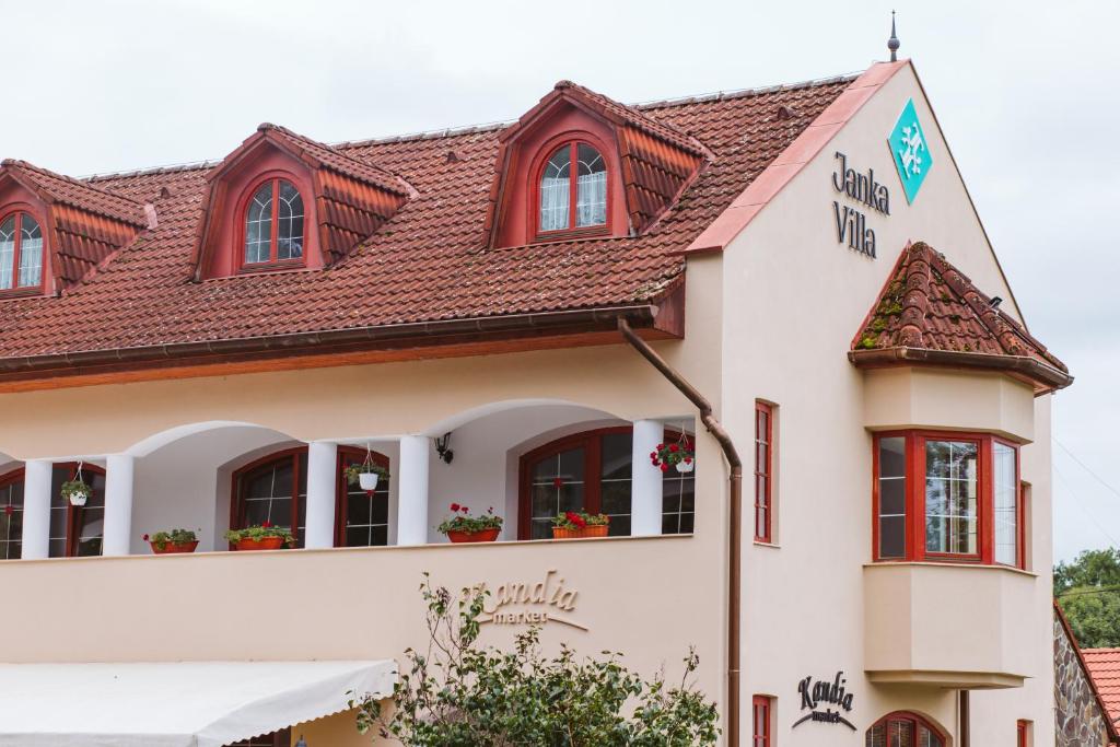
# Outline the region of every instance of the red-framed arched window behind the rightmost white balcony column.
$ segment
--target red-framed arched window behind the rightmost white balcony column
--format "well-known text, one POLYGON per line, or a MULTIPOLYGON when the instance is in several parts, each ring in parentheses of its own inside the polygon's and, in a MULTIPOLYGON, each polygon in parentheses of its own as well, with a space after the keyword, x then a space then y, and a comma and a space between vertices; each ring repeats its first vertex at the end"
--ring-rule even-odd
MULTIPOLYGON (((666 439, 680 438, 665 431, 666 439)), ((564 511, 610 516, 610 535, 631 533, 633 429, 623 426, 566 436, 521 458, 519 539, 552 536, 552 519, 564 511)), ((665 534, 692 532, 696 471, 670 469, 662 478, 665 534)))

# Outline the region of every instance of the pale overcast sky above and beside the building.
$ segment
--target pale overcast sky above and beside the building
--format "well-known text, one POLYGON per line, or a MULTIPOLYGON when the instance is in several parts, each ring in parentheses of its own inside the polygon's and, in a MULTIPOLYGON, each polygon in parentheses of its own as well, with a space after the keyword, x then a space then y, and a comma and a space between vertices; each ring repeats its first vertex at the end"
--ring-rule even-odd
MULTIPOLYGON (((0 157, 87 175, 519 116, 571 78, 637 102, 885 57, 889 10, 1056 398, 1055 550, 1120 545, 1120 3, 0 0, 0 157), (1107 484, 1107 485, 1105 485, 1107 484)), ((0 319, 2 324, 2 319, 0 319)))

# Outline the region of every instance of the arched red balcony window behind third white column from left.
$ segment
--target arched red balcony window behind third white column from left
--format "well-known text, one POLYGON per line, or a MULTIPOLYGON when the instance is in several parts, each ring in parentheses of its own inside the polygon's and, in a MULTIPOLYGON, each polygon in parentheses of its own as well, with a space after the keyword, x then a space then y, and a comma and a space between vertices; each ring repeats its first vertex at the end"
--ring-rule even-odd
MULTIPOLYGON (((343 470, 365 459, 364 449, 338 448, 338 483, 335 492, 335 547, 364 548, 389 544, 390 480, 377 482, 373 495, 346 482, 343 470)), ((389 457, 373 452, 373 460, 390 469, 389 457)), ((256 459, 233 474, 230 526, 245 529, 263 524, 291 530, 302 548, 307 517, 307 448, 286 449, 256 459), (293 529, 295 527, 295 529, 293 529)))

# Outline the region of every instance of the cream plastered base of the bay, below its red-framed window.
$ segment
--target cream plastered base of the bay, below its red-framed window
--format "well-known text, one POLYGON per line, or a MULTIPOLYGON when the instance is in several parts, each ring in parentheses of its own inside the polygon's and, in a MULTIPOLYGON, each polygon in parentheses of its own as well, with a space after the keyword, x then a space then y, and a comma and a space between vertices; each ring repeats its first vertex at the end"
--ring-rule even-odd
POLYGON ((1037 604, 1034 573, 1005 567, 864 567, 865 670, 879 684, 952 689, 1023 685, 1037 604))

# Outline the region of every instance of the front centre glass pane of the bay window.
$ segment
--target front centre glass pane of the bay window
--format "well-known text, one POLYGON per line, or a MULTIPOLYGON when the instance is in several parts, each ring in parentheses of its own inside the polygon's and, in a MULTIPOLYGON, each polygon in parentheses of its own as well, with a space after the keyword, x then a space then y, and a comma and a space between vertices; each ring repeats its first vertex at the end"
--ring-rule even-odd
POLYGON ((926 441, 927 552, 977 553, 978 452, 970 441, 926 441))

